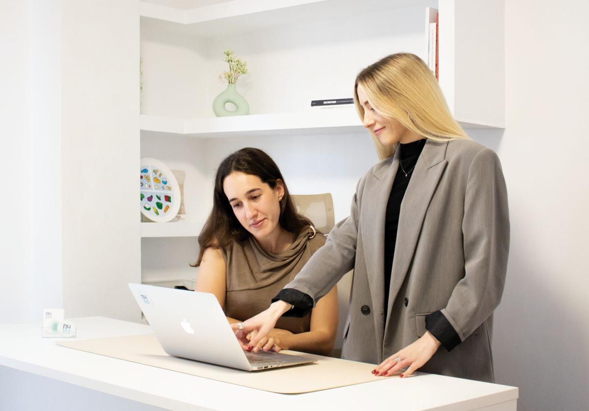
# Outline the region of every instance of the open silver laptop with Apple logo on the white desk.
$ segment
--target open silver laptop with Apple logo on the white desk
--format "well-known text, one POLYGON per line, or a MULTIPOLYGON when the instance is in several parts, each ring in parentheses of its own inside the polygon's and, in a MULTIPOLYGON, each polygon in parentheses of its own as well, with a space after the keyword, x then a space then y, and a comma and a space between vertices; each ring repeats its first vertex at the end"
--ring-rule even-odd
POLYGON ((316 362, 306 356, 245 352, 211 293, 129 284, 145 319, 171 356, 246 371, 316 362))

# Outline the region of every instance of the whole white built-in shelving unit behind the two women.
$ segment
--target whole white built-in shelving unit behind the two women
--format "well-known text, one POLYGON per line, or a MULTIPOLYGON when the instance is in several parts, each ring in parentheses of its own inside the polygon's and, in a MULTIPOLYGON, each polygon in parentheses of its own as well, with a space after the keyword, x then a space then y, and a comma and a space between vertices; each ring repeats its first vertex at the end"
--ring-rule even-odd
POLYGON ((142 253, 174 242, 171 258, 194 258, 216 167, 243 146, 268 152, 291 193, 332 192, 336 220, 345 218, 358 178, 378 159, 353 106, 310 101, 351 97, 356 73, 388 54, 425 59, 426 7, 439 10, 439 82, 455 118, 466 129, 504 127, 503 1, 233 0, 186 10, 155 2, 140 2, 141 156, 186 169, 189 222, 142 223, 142 253), (211 109, 224 89, 225 49, 248 63, 237 84, 248 116, 211 109))

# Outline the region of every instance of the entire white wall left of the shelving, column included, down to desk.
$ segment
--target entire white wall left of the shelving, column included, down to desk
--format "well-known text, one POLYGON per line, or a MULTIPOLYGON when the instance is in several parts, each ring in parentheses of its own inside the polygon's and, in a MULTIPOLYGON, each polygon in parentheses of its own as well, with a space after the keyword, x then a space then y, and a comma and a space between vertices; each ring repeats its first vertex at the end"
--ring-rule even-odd
POLYGON ((137 320, 126 283, 140 281, 128 200, 139 162, 138 2, 2 0, 0 16, 0 322, 61 307, 70 318, 137 320))

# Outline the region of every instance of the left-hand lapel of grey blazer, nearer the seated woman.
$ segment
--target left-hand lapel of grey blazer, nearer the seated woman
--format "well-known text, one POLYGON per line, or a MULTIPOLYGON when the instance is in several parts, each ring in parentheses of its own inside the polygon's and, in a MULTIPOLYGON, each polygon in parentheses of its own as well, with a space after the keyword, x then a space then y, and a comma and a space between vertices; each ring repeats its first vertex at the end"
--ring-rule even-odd
MULTIPOLYGON (((385 333, 385 218, 386 205, 395 175, 399 168, 399 152, 393 156, 391 163, 387 163, 378 171, 373 173, 375 179, 370 191, 370 201, 363 204, 365 216, 363 220, 364 229, 363 252, 365 254, 368 285, 372 299, 372 311, 375 322, 376 341, 382 341, 385 333)), ((382 346, 378 344, 378 355, 382 357, 382 346)))

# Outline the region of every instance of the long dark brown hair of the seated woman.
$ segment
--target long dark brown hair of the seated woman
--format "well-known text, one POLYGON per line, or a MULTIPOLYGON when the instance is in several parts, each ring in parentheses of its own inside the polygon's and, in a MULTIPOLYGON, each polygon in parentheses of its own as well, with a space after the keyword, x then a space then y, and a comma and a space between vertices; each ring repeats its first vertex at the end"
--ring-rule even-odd
POLYGON ((294 207, 289 189, 273 159, 260 149, 242 148, 227 156, 217 168, 213 189, 213 210, 211 210, 209 218, 198 236, 198 259, 193 267, 200 266, 204 250, 207 248, 224 248, 233 240, 241 241, 251 235, 237 220, 223 191, 225 178, 233 172, 257 176, 272 189, 276 187, 277 181, 282 181, 284 196, 280 201, 280 226, 297 236, 305 226, 312 225, 310 220, 300 215, 294 207))

